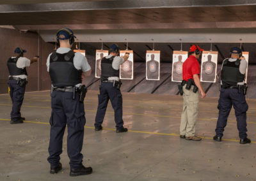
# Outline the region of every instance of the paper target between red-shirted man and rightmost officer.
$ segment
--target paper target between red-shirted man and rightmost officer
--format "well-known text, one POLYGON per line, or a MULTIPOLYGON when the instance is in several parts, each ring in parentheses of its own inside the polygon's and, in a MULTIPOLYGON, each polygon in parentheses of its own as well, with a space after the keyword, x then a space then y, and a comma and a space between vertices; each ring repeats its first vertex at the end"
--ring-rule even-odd
POLYGON ((201 82, 216 82, 217 64, 218 52, 203 52, 201 66, 201 82))

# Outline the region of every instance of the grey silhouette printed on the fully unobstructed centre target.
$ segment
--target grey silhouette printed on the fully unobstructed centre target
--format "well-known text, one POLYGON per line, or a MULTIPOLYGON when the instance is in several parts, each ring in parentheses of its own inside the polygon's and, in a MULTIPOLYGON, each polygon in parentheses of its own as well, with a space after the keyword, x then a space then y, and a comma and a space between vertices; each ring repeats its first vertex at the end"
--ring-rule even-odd
POLYGON ((147 62, 147 78, 159 80, 159 62, 155 60, 154 54, 151 54, 151 60, 147 62))

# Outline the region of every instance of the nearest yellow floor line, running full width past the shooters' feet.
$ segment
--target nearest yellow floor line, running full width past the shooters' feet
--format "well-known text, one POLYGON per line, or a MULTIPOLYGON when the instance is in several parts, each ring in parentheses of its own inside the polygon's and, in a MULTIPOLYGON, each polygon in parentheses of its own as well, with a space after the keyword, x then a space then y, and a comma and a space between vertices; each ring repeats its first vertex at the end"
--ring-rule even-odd
MULTIPOLYGON (((10 121, 10 119, 0 119, 0 120, 7 120, 10 121)), ((38 121, 31 121, 31 120, 24 120, 24 122, 28 122, 28 123, 33 123, 33 124, 47 124, 49 125, 49 122, 38 122, 38 121)), ((88 129, 94 129, 94 127, 92 126, 84 126, 84 128, 88 128, 88 129)), ((111 129, 111 128, 103 128, 104 130, 111 130, 111 131, 115 131, 116 129, 111 129)), ((129 130, 128 132, 131 133, 143 133, 143 134, 156 134, 156 135, 165 135, 165 136, 180 136, 179 134, 175 134, 175 133, 156 133, 156 132, 148 132, 148 131, 132 131, 129 130)), ((211 137, 204 137, 204 136, 198 136, 200 138, 203 139, 207 139, 207 140, 212 140, 211 137)), ((236 139, 222 139, 224 141, 236 141, 238 142, 239 140, 236 139)), ((256 141, 252 141, 252 143, 256 143, 256 141)))

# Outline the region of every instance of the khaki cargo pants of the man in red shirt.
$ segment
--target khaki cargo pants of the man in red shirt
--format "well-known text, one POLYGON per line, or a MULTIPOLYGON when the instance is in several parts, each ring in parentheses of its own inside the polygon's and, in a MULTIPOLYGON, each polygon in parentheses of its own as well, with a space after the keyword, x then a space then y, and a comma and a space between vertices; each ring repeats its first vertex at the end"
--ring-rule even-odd
POLYGON ((180 135, 195 136, 195 124, 198 116, 199 94, 183 86, 183 110, 180 120, 180 135))

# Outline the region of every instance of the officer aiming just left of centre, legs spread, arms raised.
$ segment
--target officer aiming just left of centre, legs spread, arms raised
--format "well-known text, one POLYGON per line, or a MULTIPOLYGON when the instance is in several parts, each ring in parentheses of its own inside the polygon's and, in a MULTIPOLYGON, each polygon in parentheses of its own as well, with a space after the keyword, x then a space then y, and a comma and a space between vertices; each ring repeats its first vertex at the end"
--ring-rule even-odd
POLYGON ((120 91, 120 65, 124 64, 129 58, 129 54, 125 54, 123 57, 119 55, 120 48, 118 45, 113 44, 109 47, 109 55, 103 57, 101 60, 101 78, 100 78, 100 94, 99 105, 95 118, 95 131, 102 129, 102 122, 105 117, 108 101, 110 99, 112 107, 115 111, 116 133, 127 132, 125 128, 124 120, 122 119, 122 94, 120 91))

